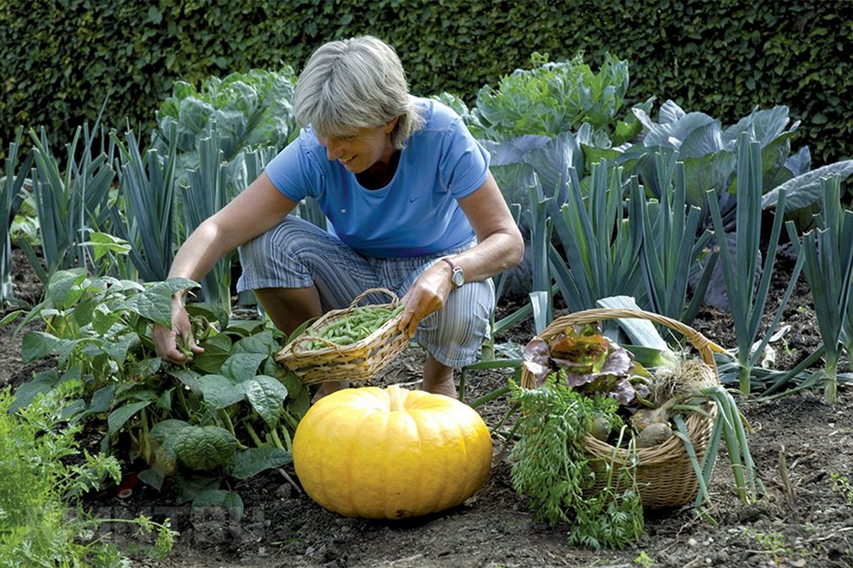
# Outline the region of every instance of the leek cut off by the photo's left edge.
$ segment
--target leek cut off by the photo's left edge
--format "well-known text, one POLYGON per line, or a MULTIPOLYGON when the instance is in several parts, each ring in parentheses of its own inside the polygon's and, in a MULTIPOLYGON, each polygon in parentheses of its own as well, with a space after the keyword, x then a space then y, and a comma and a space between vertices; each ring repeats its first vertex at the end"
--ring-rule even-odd
POLYGON ((23 129, 15 130, 15 139, 9 143, 6 154, 6 169, 3 184, 0 185, 0 235, 3 243, 0 246, 0 307, 15 301, 15 291, 12 290, 12 241, 10 225, 24 201, 21 187, 24 185, 26 174, 32 164, 32 153, 18 164, 18 150, 23 129))

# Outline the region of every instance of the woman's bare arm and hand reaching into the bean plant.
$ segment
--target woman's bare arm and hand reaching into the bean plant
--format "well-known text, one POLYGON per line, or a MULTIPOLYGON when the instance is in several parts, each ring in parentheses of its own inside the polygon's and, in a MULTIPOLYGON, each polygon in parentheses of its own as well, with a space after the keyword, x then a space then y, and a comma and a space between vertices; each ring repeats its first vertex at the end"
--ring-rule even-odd
MULTIPOLYGON (((262 173, 189 235, 177 250, 169 278, 200 281, 224 255, 275 227, 295 206, 296 202, 286 198, 262 173)), ((177 349, 178 337, 183 338, 194 353, 202 351, 195 345, 189 316, 183 307, 186 293, 187 290, 182 290, 172 296, 171 330, 155 325, 153 333, 157 354, 177 364, 187 361, 186 355, 177 349)))

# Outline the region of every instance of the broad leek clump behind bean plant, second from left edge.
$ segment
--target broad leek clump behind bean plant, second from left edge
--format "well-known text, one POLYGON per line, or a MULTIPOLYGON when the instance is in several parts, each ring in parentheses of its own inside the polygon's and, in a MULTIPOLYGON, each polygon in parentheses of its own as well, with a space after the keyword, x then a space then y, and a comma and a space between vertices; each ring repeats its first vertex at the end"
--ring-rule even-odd
POLYGON ((114 146, 102 135, 102 151, 95 155, 95 132, 90 132, 88 125, 78 127, 73 141, 66 145, 67 164, 63 172, 50 151, 44 128, 38 135, 35 131, 30 135, 36 163, 32 195, 44 266, 26 240, 20 241, 20 247, 38 278, 47 284, 50 275, 59 269, 92 265, 89 249, 81 245, 89 240, 90 232, 107 228, 107 199, 115 178, 114 146))

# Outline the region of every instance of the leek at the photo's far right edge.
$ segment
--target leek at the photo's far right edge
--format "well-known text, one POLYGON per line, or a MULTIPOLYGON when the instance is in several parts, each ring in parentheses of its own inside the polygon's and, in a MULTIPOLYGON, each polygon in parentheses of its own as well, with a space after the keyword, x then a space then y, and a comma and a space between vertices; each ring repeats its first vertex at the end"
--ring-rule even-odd
POLYGON ((798 256, 805 259, 805 278, 815 301, 817 327, 824 346, 823 392, 827 402, 837 399, 838 359, 842 342, 853 366, 853 211, 841 206, 841 178, 821 180, 821 214, 814 229, 800 243, 792 221, 786 223, 798 256))

